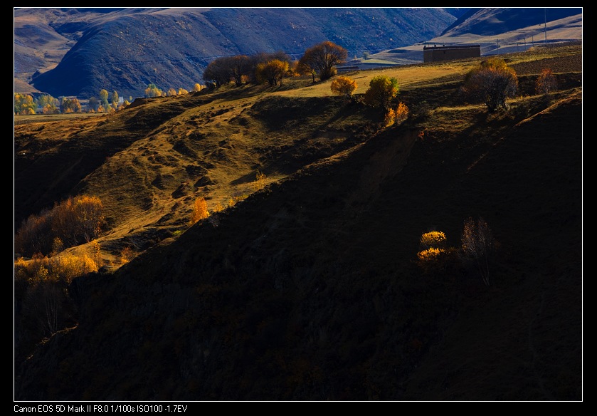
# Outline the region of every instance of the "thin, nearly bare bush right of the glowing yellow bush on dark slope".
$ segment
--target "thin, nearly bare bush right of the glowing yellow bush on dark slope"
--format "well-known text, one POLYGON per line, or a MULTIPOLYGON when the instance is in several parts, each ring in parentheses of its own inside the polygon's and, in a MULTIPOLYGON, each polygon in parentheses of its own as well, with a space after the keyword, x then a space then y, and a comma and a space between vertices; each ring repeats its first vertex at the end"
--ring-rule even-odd
POLYGON ((467 267, 476 269, 486 286, 490 286, 490 256, 495 249, 495 239, 484 219, 465 220, 461 237, 460 259, 467 267))

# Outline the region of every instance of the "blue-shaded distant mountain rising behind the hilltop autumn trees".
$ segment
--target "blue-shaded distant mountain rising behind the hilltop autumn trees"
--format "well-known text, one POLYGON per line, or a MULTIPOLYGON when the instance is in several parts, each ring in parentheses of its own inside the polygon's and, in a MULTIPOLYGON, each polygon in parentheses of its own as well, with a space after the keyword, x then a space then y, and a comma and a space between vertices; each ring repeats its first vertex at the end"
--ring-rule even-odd
POLYGON ((31 76, 31 85, 55 96, 88 98, 102 88, 139 96, 148 83, 192 88, 218 56, 300 57, 329 40, 352 57, 437 36, 455 19, 443 9, 416 8, 19 9, 15 76, 31 76), (32 46, 33 29, 40 43, 32 46), (38 53, 52 46, 44 36, 56 38, 55 55, 68 48, 54 56, 55 68, 44 68, 38 53))

